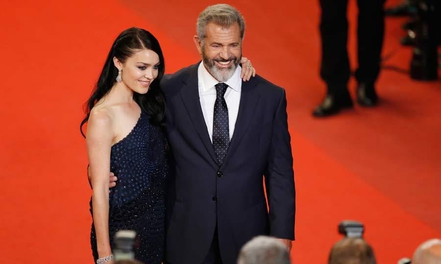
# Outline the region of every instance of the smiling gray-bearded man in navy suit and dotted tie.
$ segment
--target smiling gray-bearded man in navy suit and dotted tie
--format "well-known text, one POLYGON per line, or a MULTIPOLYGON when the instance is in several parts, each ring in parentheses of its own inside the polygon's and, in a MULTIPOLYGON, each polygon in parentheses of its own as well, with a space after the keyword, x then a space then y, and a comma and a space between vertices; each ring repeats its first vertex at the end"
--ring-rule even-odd
POLYGON ((240 78, 245 22, 226 4, 197 20, 202 62, 163 79, 173 157, 166 259, 236 263, 251 238, 294 240, 293 157, 283 88, 240 78), (269 212, 263 187, 269 201, 269 212))

